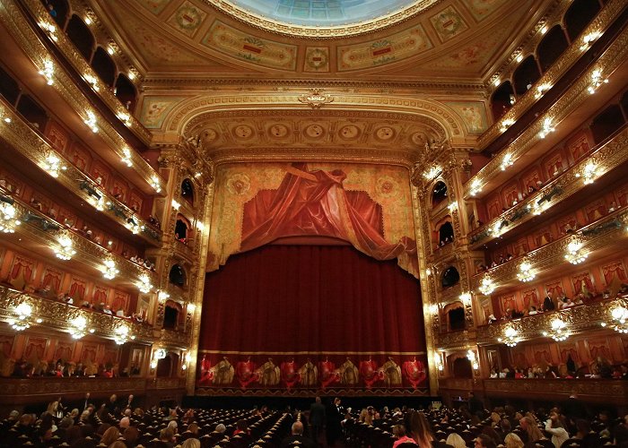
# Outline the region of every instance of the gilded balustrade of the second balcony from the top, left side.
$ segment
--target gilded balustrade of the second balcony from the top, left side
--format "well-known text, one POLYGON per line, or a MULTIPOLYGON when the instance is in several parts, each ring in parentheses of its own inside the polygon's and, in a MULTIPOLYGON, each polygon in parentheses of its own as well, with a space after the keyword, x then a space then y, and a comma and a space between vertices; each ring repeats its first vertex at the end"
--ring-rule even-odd
MULTIPOLYGON (((39 36, 34 30, 31 29, 31 23, 23 16, 17 4, 14 2, 5 2, 3 6, 3 8, 0 8, 0 20, 11 32, 17 44, 29 55, 38 56, 41 60, 47 58, 49 56, 48 49, 43 45, 41 40, 39 40, 39 36)), ((41 6, 41 4, 39 4, 39 6, 41 6)), ((41 17, 43 17, 43 15, 41 17)), ((46 13, 47 20, 49 20, 48 17, 49 14, 46 13)), ((74 47, 71 43, 68 43, 68 45, 74 47)), ((76 50, 74 49, 74 51, 76 50)), ((77 54, 77 57, 82 56, 77 54)), ((56 66, 59 66, 58 61, 56 66)), ((65 73, 64 70, 56 70, 55 76, 57 82, 49 86, 49 88, 57 91, 65 102, 84 119, 87 116, 87 112, 92 111, 92 103, 90 100, 83 95, 83 91, 74 84, 74 80, 68 73, 65 73)), ((99 125, 98 135, 107 143, 111 151, 114 151, 119 158, 123 158, 123 148, 126 147, 125 139, 118 134, 113 126, 109 125, 107 117, 101 116, 99 113, 96 113, 95 116, 99 125)), ((146 185, 151 184, 153 177, 158 177, 160 184, 165 185, 165 181, 157 175, 153 167, 151 167, 144 158, 134 153, 133 162, 133 167, 128 169, 135 170, 135 172, 144 179, 146 185)))

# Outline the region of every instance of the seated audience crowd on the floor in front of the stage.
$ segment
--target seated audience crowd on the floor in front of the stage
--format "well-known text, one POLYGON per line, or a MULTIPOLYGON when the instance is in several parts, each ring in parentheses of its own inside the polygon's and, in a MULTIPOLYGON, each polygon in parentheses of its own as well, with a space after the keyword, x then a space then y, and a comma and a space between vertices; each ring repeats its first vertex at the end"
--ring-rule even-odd
POLYGON ((65 405, 61 398, 38 416, 13 410, 0 423, 0 444, 74 448, 205 447, 412 447, 422 448, 606 448, 628 447, 628 416, 589 413, 573 395, 561 407, 534 412, 511 406, 484 409, 469 394, 459 409, 435 403, 360 411, 336 398, 317 398, 309 410, 173 409, 135 405, 133 395, 97 405, 88 393, 65 405))

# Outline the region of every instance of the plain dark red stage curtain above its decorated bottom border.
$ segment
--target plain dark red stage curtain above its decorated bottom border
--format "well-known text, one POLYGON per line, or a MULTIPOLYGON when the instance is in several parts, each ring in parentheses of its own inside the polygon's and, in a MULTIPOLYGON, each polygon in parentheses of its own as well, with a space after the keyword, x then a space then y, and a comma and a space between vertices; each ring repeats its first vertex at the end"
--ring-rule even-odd
POLYGON ((199 349, 418 354, 425 351, 419 282, 394 260, 376 261, 351 246, 236 254, 206 276, 199 349))

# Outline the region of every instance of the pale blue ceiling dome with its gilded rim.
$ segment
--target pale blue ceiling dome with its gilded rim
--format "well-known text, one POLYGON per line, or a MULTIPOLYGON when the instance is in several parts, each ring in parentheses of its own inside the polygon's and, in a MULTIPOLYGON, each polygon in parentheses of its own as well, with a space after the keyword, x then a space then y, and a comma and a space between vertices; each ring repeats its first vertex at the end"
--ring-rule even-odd
POLYGON ((254 26, 308 37, 362 34, 406 20, 440 0, 205 0, 254 26), (329 35, 330 32, 333 35, 329 35))

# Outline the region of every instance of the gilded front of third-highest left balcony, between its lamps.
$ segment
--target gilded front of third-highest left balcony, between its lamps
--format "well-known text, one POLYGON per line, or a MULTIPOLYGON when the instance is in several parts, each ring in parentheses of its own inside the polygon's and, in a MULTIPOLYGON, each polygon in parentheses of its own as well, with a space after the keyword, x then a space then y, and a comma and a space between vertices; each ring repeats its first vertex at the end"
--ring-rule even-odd
MULTIPOLYGON (((22 116, 14 113, 12 109, 8 109, 4 99, 0 99, 0 104, 4 106, 7 116, 11 117, 10 124, 0 121, 0 136, 2 136, 2 138, 8 142, 14 150, 19 151, 23 156, 31 159, 39 167, 42 167, 48 158, 48 154, 54 151, 54 149, 48 144, 48 142, 41 138, 30 125, 23 121, 22 116), (8 112, 8 110, 10 110, 10 112, 8 112)), ((66 167, 58 173, 57 181, 59 183, 65 185, 65 187, 74 192, 74 194, 83 198, 85 202, 93 203, 95 196, 88 194, 88 191, 81 187, 83 182, 85 182, 86 185, 91 186, 93 191, 100 194, 102 202, 105 204, 109 202, 110 205, 105 205, 105 209, 110 208, 107 212, 109 213, 109 217, 111 219, 117 220, 122 226, 126 227, 128 225, 127 219, 129 217, 133 217, 140 228, 152 230, 152 228, 148 226, 144 220, 137 218, 135 211, 132 211, 125 204, 119 202, 118 199, 105 193, 100 186, 96 185, 96 183, 84 174, 83 171, 75 168, 74 165, 58 153, 57 157, 66 167), (83 179, 83 181, 77 181, 77 179, 83 179), (125 217, 118 216, 119 213, 116 213, 116 211, 121 211, 125 217)), ((41 169, 43 171, 43 168, 41 169)), ((153 237, 150 237, 144 231, 140 231, 139 235, 153 245, 157 243, 153 237)))

